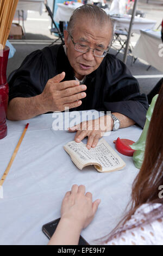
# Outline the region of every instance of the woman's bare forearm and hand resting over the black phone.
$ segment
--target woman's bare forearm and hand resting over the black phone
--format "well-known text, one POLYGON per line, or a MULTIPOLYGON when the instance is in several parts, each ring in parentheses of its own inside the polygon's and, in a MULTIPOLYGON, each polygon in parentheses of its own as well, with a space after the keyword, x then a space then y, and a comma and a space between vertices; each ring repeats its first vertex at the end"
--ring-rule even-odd
POLYGON ((61 219, 48 245, 78 245, 80 232, 90 224, 100 199, 92 203, 85 186, 73 185, 62 200, 61 219))

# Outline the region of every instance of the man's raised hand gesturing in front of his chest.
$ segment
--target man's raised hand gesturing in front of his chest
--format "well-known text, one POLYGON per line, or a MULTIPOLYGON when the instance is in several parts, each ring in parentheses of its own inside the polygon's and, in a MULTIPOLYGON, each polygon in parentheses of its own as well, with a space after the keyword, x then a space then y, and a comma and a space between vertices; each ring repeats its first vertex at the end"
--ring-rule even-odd
POLYGON ((86 86, 79 86, 76 80, 61 82, 65 77, 65 72, 49 79, 41 96, 41 104, 45 107, 45 112, 64 111, 65 107, 74 108, 82 104, 80 99, 86 96, 83 91, 86 86))

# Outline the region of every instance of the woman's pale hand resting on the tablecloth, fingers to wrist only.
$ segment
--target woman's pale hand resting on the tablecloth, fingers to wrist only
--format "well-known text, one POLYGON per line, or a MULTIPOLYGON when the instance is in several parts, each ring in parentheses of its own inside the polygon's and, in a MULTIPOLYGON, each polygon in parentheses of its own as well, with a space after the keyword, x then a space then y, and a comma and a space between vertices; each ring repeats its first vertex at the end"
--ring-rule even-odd
POLYGON ((97 199, 92 203, 92 194, 85 194, 84 185, 73 185, 62 200, 61 219, 72 220, 82 230, 93 220, 100 202, 101 200, 97 199))

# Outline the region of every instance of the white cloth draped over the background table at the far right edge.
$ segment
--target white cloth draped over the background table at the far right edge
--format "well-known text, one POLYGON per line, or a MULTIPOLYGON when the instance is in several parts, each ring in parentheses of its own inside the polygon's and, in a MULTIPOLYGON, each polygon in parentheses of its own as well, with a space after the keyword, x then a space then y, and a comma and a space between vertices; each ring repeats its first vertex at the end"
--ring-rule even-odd
POLYGON ((163 72, 162 48, 161 32, 141 31, 133 50, 133 56, 145 60, 149 65, 163 72))

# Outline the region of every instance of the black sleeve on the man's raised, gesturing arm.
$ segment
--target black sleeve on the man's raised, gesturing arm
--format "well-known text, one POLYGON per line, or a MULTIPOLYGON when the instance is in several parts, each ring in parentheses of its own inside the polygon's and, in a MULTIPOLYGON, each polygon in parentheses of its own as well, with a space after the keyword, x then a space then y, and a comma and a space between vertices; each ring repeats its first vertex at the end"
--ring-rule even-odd
POLYGON ((9 101, 42 93, 49 79, 47 60, 41 50, 30 53, 9 81, 9 101))

